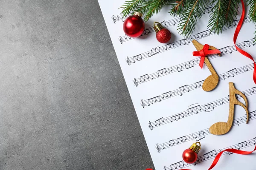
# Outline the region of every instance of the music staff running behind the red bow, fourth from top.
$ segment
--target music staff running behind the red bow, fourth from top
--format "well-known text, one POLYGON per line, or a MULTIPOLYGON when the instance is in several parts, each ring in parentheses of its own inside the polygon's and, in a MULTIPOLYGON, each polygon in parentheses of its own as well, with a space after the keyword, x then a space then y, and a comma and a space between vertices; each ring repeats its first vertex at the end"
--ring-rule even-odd
MULTIPOLYGON (((255 45, 254 39, 250 39, 247 42, 250 42, 250 44, 253 44, 253 46, 255 45)), ((245 46, 243 46, 243 44, 244 44, 244 42, 241 42, 241 43, 239 43, 237 45, 241 45, 241 48, 249 47, 249 44, 246 44, 245 46)), ((227 47, 221 48, 219 50, 221 51, 221 56, 223 56, 225 54, 231 54, 232 52, 237 51, 235 45, 233 45, 231 47, 227 46, 227 47)), ((218 56, 218 54, 212 54, 212 55, 208 55, 207 57, 208 57, 208 59, 215 59, 215 58, 217 58, 219 56, 218 56)), ((187 70, 189 68, 193 68, 194 65, 198 65, 199 62, 200 62, 200 59, 195 58, 193 60, 190 60, 190 61, 187 61, 187 62, 183 62, 183 63, 181 63, 179 65, 174 65, 174 66, 172 66, 170 68, 163 68, 163 69, 161 69, 161 70, 164 70, 163 73, 159 74, 159 71, 151 73, 151 74, 149 74, 149 75, 151 75, 150 79, 145 79, 145 81, 138 82, 137 86, 142 84, 142 83, 151 81, 153 79, 157 79, 159 77, 166 76, 168 74, 172 74, 172 73, 175 73, 175 72, 183 71, 183 68, 184 68, 184 70, 187 70)), ((136 78, 136 79, 139 79, 139 78, 136 78)))

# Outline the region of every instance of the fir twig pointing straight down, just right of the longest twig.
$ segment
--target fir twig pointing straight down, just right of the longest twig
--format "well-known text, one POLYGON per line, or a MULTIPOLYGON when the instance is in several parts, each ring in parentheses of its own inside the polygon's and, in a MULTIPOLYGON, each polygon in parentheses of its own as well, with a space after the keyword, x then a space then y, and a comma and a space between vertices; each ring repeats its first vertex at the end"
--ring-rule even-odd
POLYGON ((223 0, 213 0, 212 5, 215 4, 212 8, 212 13, 210 14, 210 20, 208 28, 211 27, 211 32, 214 31, 216 34, 222 33, 222 28, 225 21, 225 4, 223 0))

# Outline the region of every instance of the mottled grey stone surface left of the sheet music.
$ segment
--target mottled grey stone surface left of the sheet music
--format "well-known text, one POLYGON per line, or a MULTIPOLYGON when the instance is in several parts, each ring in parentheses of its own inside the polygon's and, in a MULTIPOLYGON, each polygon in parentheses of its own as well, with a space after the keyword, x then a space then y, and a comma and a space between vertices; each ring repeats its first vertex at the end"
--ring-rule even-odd
POLYGON ((0 170, 147 167, 97 0, 1 0, 0 170))

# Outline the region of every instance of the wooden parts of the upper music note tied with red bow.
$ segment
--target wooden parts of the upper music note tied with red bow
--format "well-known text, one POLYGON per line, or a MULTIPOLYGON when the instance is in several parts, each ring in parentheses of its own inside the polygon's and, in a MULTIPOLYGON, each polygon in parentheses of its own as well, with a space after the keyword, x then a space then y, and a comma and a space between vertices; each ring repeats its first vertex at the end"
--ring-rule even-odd
MULTIPOLYGON (((204 45, 200 44, 196 40, 192 40, 192 43, 195 46, 197 51, 201 51, 204 48, 204 45)), ((217 50, 217 48, 210 45, 209 50, 217 50)), ((218 55, 221 56, 221 54, 218 54, 218 55)), ((203 90, 212 91, 218 85, 218 80, 219 80, 218 74, 212 67, 207 57, 205 57, 204 63, 207 65, 209 71, 211 72, 211 75, 204 80, 203 90)))

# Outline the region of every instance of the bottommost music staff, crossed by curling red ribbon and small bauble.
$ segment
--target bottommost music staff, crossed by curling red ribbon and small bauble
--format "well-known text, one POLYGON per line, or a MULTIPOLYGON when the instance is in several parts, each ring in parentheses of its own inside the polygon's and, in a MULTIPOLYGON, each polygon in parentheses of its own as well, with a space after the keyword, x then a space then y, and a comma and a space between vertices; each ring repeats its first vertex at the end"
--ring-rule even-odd
MULTIPOLYGON (((187 164, 184 161, 178 161, 175 164, 170 164, 169 167, 164 166, 163 170, 179 170, 183 167, 189 167, 189 166, 192 166, 192 165, 196 166, 196 164, 199 164, 201 162, 208 161, 210 159, 214 159, 217 156, 217 154, 221 152, 221 150, 226 150, 226 149, 229 149, 229 148, 234 148, 234 149, 238 149, 238 150, 244 149, 246 147, 250 147, 250 146, 255 145, 255 141, 256 141, 256 137, 253 138, 253 139, 241 142, 239 144, 232 145, 230 147, 226 147, 226 148, 223 148, 223 149, 211 150, 210 152, 205 153, 202 156, 198 156, 198 160, 193 164, 187 164)), ((222 155, 230 155, 230 153, 224 152, 224 153, 222 153, 222 155)))

